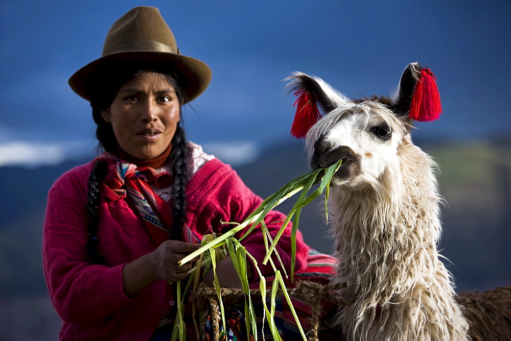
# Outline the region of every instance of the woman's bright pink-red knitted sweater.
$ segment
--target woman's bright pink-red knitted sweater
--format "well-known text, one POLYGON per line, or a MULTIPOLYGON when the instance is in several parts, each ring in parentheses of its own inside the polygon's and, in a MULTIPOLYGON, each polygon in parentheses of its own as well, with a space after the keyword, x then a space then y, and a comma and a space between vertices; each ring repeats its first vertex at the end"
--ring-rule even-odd
MULTIPOLYGON (((123 266, 155 250, 141 218, 125 200, 100 202, 98 251, 109 266, 92 265, 85 256, 88 240, 86 212, 87 179, 93 162, 63 174, 52 186, 44 221, 43 267, 50 298, 63 320, 60 339, 149 339, 161 319, 167 285, 157 281, 128 298, 124 294, 123 266)), ((190 179, 187 194, 187 225, 197 235, 221 232, 225 222, 242 222, 262 199, 245 186, 230 166, 218 159, 208 161, 190 179)), ((271 211, 265 222, 272 235, 284 214, 271 211)), ((229 226, 229 225, 227 225, 229 226)), ((241 231, 237 237, 240 237, 241 231)), ((290 269, 290 226, 277 249, 290 269)), ((265 255, 260 230, 243 240, 247 251, 262 267, 265 255)), ((306 266, 308 247, 297 233, 296 271, 306 266)))

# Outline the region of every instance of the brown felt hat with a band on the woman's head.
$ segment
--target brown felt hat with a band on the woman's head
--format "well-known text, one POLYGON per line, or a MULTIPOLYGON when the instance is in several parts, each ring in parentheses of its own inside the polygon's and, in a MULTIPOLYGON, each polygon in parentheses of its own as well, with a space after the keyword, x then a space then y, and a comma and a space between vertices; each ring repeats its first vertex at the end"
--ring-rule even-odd
POLYGON ((174 70, 179 86, 187 94, 187 102, 197 98, 211 81, 211 69, 206 63, 181 55, 174 34, 159 10, 141 6, 115 21, 106 35, 102 57, 76 71, 68 83, 90 101, 91 93, 111 68, 137 63, 146 68, 154 64, 174 70))

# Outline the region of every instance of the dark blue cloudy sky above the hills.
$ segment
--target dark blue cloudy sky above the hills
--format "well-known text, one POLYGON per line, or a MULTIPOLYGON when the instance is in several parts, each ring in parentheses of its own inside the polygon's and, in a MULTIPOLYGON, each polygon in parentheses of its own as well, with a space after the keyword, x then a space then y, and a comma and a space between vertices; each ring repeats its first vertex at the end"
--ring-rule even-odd
POLYGON ((57 163, 96 145, 88 103, 67 86, 101 55, 132 7, 160 9, 184 55, 213 70, 184 109, 188 138, 241 163, 291 140, 299 70, 351 98, 389 94, 403 68, 432 69, 444 114, 428 138, 511 132, 511 2, 503 1, 0 1, 0 166, 57 163))

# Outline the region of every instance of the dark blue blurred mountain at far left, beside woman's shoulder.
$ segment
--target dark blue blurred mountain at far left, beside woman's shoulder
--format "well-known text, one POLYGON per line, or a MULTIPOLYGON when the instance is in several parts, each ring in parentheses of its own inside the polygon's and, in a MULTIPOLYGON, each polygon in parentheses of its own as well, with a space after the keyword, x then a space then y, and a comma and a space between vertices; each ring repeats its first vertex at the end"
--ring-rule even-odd
POLYGON ((61 174, 84 162, 0 168, 0 296, 47 293, 41 240, 48 191, 61 174))

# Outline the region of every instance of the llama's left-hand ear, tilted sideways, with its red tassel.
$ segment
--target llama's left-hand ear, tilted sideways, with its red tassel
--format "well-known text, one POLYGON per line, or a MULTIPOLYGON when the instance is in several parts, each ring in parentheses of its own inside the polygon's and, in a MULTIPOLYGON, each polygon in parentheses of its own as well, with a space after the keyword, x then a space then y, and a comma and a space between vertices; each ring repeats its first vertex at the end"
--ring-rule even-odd
POLYGON ((294 72, 285 79, 289 81, 289 92, 294 91, 298 99, 294 103, 294 116, 291 134, 296 138, 305 137, 309 129, 321 118, 318 105, 324 114, 328 114, 342 102, 349 101, 323 80, 301 72, 294 72))

